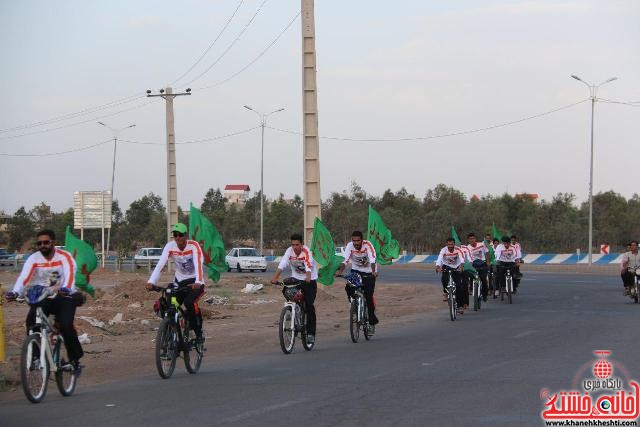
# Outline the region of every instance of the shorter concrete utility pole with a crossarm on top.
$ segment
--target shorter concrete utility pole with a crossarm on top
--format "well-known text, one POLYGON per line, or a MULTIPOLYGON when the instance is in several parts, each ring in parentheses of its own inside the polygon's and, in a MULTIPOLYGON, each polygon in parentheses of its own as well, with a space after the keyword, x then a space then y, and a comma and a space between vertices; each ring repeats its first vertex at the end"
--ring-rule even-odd
POLYGON ((173 98, 182 95, 191 95, 191 89, 183 93, 173 93, 170 87, 160 89, 159 94, 148 97, 160 96, 166 101, 167 114, 167 241, 171 240, 171 226, 178 222, 178 184, 176 179, 176 135, 173 128, 173 98))

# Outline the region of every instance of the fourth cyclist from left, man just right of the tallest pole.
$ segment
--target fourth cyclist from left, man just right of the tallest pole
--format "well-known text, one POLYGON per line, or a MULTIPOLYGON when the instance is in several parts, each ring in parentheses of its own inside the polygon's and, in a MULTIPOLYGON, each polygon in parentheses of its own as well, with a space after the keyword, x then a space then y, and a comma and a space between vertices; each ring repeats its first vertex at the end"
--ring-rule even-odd
MULTIPOLYGON (((362 238, 362 231, 356 230, 351 233, 351 241, 347 243, 344 250, 344 262, 336 272, 336 275, 342 274, 347 264, 351 264, 351 271, 357 272, 362 278, 362 287, 364 297, 367 301, 367 309, 369 311, 369 333, 374 334, 378 323, 376 317, 376 303, 373 293, 376 289, 376 278, 378 271, 376 268, 376 250, 368 240, 362 238)), ((353 297, 353 289, 346 285, 345 290, 349 299, 353 297)))

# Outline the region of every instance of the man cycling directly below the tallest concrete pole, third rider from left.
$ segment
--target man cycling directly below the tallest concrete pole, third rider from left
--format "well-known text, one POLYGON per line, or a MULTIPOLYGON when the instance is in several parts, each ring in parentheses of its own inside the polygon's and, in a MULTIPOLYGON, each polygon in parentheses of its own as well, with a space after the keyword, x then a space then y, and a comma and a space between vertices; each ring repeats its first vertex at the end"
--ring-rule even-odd
POLYGON ((282 256, 271 283, 278 283, 280 274, 287 268, 287 265, 291 267, 291 277, 303 282, 302 293, 307 306, 307 343, 313 344, 316 337, 316 309, 313 303, 318 291, 318 283, 316 282, 318 269, 311 255, 311 250, 303 244, 301 234, 295 233, 291 236, 291 246, 282 256))

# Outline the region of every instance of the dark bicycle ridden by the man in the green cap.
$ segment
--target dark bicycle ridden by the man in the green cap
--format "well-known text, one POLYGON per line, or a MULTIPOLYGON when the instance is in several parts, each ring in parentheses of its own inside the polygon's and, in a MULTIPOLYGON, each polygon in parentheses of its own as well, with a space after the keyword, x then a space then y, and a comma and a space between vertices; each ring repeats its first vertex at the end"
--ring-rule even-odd
POLYGON ((181 288, 171 285, 163 288, 153 286, 152 290, 162 292, 154 310, 162 320, 156 335, 156 369, 162 379, 169 379, 176 367, 176 359, 180 352, 184 359, 184 367, 190 374, 200 369, 204 356, 204 344, 198 342, 195 332, 191 329, 182 305, 178 303, 176 294, 181 288))

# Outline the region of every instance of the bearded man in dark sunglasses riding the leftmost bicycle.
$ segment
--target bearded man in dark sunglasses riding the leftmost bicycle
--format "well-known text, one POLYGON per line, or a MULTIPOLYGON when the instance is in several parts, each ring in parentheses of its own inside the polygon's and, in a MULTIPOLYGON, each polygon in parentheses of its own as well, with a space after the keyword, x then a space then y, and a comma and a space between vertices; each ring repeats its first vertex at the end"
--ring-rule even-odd
MULTIPOLYGON (((80 358, 84 355, 82 345, 78 340, 78 333, 73 326, 76 314, 77 298, 75 275, 76 262, 73 256, 55 247, 56 235, 53 230, 42 230, 36 235, 36 252, 32 253, 22 267, 22 272, 16 280, 13 290, 7 292, 5 298, 10 301, 16 299, 29 286, 51 287, 56 292, 55 297, 42 302, 45 315, 54 314, 64 339, 73 373, 79 376, 82 372, 80 358)), ((36 307, 31 306, 27 315, 27 333, 36 322, 36 307)))

